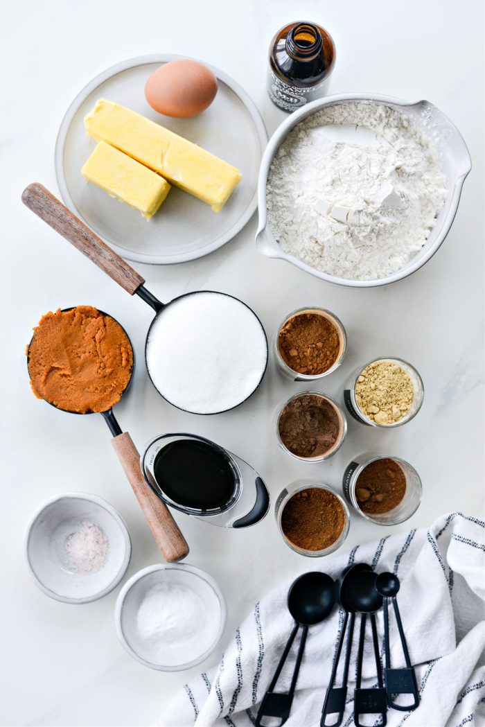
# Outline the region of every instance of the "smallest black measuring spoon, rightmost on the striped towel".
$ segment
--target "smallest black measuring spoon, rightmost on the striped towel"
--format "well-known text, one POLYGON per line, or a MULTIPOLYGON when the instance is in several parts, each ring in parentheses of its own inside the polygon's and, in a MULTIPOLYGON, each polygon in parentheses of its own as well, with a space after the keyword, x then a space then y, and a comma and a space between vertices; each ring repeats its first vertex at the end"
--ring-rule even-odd
POLYGON ((401 712, 412 712, 418 704, 420 704, 420 694, 417 689, 416 674, 409 659, 409 651, 407 648, 406 637, 404 636, 403 624, 401 622, 401 614, 399 613, 396 595, 401 584, 398 577, 393 573, 380 573, 375 579, 375 587, 377 591, 384 597, 384 646, 385 646, 385 670, 384 681, 385 691, 388 695, 389 707, 393 710, 401 712), (389 601, 393 602, 394 614, 396 616, 396 624, 398 627, 399 638, 401 639, 401 647, 404 653, 405 669, 392 669, 390 666, 390 646, 389 646, 389 601), (393 694, 411 694, 413 698, 412 704, 396 704, 393 701, 393 694))

